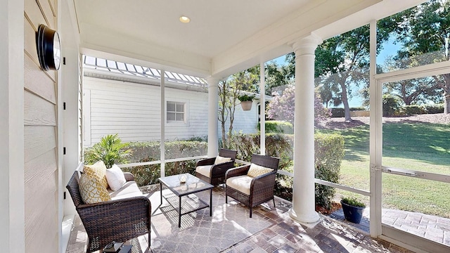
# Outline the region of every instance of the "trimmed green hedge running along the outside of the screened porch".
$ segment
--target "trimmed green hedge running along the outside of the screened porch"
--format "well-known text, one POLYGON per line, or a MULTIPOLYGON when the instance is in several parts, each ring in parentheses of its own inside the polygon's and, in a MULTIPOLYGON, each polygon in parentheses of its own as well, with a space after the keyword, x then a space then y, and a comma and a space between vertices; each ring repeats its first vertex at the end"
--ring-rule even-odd
MULTIPOLYGON (((316 134, 315 139, 315 168, 316 178, 338 183, 340 162, 344 155, 344 138, 336 134, 316 134)), ((250 161, 252 154, 259 154, 259 134, 235 134, 231 136, 233 143, 231 149, 238 150, 238 159, 250 161)), ((293 134, 266 134, 266 154, 280 157, 278 169, 293 173, 293 134)), ((191 157, 207 153, 205 141, 167 141, 166 158, 191 157)), ((131 150, 130 162, 150 162, 160 159, 160 143, 132 142, 127 143, 131 150)), ((195 160, 172 162, 165 164, 165 175, 181 173, 195 173, 195 160)), ((160 177, 160 164, 141 165, 122 168, 134 174, 139 186, 158 183, 160 177)), ((276 195, 285 200, 292 200, 293 179, 290 176, 277 175, 276 195)), ((316 184, 316 204, 330 207, 331 199, 335 193, 334 188, 316 184)))

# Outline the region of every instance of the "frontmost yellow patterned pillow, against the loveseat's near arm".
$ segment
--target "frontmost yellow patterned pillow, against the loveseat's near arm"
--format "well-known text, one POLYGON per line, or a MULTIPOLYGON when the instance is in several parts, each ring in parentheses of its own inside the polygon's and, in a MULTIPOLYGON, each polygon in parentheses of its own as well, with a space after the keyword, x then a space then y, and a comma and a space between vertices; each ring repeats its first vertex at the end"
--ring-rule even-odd
POLYGON ((110 194, 105 187, 95 178, 82 174, 79 178, 79 194, 86 204, 95 204, 98 202, 111 200, 110 194))

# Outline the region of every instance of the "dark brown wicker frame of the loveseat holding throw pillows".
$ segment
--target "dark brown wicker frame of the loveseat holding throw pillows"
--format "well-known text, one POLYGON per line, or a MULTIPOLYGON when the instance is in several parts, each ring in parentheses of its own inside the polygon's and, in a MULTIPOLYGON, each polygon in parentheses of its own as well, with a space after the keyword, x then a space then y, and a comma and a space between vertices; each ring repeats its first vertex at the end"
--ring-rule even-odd
MULTIPOLYGON (((127 181, 134 180, 125 173, 127 181)), ((140 235, 150 237, 150 200, 145 196, 128 197, 96 204, 84 204, 78 188, 78 172, 72 175, 68 188, 89 238, 86 252, 103 249, 110 242, 125 242, 140 235)), ((150 238, 148 238, 150 242, 150 238)), ((150 243, 148 245, 150 250, 150 243)))

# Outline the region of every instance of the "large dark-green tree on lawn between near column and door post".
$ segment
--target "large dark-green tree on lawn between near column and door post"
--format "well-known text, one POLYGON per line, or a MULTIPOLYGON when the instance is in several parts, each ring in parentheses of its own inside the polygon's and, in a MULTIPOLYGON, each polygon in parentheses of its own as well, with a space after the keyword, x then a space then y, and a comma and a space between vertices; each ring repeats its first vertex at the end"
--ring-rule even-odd
MULTIPOLYGON (((385 34, 380 32, 380 41, 385 34)), ((316 48, 314 75, 319 77, 316 86, 320 87, 321 98, 327 105, 342 103, 347 122, 352 121, 348 103, 352 88, 368 82, 369 35, 369 26, 365 25, 327 39, 316 48)), ((287 59, 295 65, 293 54, 287 59)))

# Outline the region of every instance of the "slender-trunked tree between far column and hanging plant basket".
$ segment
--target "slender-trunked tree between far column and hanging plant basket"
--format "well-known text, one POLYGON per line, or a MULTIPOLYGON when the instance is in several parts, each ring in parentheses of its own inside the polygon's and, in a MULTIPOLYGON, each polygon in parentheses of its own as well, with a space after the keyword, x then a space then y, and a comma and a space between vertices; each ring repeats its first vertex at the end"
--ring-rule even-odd
POLYGON ((221 122, 222 147, 229 147, 233 132, 234 112, 239 104, 238 96, 243 91, 255 91, 259 76, 259 65, 231 75, 219 82, 219 122, 221 122), (226 122, 229 128, 226 130, 226 122))

